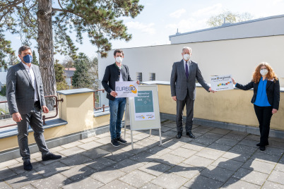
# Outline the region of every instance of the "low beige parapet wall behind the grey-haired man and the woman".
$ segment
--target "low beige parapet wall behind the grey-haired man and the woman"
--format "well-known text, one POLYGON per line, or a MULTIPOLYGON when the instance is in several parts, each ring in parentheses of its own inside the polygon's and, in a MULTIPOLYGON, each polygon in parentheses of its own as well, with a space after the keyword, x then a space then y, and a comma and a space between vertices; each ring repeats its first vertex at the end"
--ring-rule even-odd
MULTIPOLYGON (((170 94, 170 85, 158 85, 160 113, 176 114, 176 103, 170 94)), ((253 91, 227 90, 209 93, 203 87, 196 87, 194 118, 202 118, 244 126, 258 127, 258 121, 251 103, 253 91)), ((272 116, 271 128, 284 130, 284 92, 280 92, 278 113, 272 116)), ((186 115, 186 111, 184 111, 186 115)))

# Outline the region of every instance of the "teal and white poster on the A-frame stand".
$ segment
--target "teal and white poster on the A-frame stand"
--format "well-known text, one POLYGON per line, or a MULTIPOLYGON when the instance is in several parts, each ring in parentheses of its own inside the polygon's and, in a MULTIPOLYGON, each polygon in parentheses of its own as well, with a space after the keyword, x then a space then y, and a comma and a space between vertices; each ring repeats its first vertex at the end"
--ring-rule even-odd
POLYGON ((138 96, 134 97, 135 121, 146 121, 155 119, 153 91, 138 91, 138 96))

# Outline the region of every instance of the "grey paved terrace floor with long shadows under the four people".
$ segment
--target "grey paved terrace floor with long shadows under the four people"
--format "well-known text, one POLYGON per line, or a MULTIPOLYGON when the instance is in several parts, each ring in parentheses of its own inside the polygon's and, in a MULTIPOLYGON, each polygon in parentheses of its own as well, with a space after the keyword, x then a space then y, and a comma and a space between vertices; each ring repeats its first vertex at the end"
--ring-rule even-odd
POLYGON ((177 140, 175 123, 162 121, 158 130, 130 130, 128 145, 112 147, 104 133, 51 149, 58 161, 31 154, 33 171, 20 158, 0 163, 0 188, 284 188, 284 140, 270 138, 266 151, 259 136, 194 126, 196 139, 177 140))

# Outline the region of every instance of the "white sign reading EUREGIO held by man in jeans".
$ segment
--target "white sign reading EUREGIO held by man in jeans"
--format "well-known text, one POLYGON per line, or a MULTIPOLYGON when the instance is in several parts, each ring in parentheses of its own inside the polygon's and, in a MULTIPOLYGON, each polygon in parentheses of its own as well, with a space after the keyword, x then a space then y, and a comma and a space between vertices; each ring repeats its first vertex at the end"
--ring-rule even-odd
POLYGON ((115 82, 115 92, 117 92, 116 98, 137 97, 137 89, 138 85, 136 81, 115 82))

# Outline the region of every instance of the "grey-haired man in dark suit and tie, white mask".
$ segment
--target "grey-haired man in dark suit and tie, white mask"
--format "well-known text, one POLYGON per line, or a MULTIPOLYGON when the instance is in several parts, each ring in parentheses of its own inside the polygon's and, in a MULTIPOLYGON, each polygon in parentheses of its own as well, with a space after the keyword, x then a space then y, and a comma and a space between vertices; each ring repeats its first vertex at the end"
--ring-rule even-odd
POLYGON ((192 123, 194 119, 194 100, 196 95, 196 80, 208 92, 215 92, 211 90, 201 75, 199 66, 194 61, 190 60, 191 48, 184 47, 182 49, 182 61, 175 62, 172 66, 172 75, 170 78, 170 88, 172 99, 177 102, 177 136, 179 139, 182 137, 182 114, 184 106, 187 106, 187 121, 185 130, 189 138, 195 138, 191 133, 192 123))

